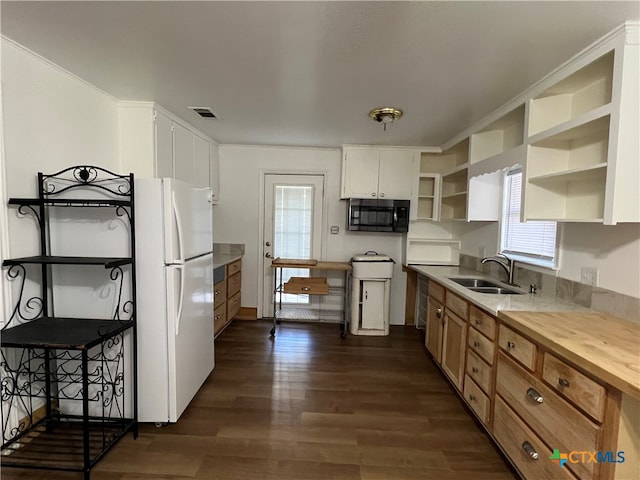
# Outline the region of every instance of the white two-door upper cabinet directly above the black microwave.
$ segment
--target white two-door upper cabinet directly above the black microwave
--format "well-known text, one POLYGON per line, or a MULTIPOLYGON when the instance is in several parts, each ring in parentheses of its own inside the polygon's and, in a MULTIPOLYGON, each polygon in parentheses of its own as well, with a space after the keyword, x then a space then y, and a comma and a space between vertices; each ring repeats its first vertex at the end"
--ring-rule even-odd
POLYGON ((416 157, 413 150, 344 147, 341 198, 411 200, 416 157))

